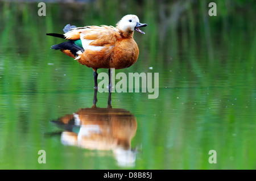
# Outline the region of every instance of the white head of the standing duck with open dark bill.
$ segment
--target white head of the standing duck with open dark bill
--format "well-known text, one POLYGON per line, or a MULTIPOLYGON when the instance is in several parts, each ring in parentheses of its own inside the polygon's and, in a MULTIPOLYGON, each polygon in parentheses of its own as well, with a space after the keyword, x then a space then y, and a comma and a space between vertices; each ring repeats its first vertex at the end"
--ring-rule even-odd
POLYGON ((123 16, 123 18, 116 24, 116 28, 124 33, 133 33, 135 30, 144 34, 144 32, 139 30, 139 28, 146 26, 147 24, 139 23, 138 16, 131 14, 123 16))

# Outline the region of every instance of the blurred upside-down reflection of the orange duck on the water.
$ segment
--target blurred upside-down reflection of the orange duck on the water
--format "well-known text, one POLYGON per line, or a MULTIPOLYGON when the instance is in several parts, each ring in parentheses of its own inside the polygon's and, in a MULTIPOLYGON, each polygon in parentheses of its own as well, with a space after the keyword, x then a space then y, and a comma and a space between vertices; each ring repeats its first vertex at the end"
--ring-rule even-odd
POLYGON ((137 121, 129 111, 97 108, 93 104, 92 108, 81 108, 72 115, 65 115, 53 122, 65 128, 61 133, 64 145, 91 150, 113 150, 119 165, 134 165, 135 151, 131 150, 131 139, 137 131, 137 121))

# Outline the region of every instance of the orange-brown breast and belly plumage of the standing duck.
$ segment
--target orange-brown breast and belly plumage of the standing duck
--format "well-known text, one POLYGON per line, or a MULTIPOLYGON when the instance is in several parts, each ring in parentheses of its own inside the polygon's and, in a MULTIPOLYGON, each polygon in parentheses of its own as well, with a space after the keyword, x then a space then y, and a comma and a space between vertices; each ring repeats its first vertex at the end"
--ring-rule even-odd
MULTIPOLYGON (((106 40, 109 40, 108 44, 101 44, 101 46, 105 46, 101 50, 85 49, 84 53, 81 54, 81 58, 78 60, 80 64, 93 69, 123 69, 133 65, 137 61, 139 48, 133 38, 121 36, 110 38, 112 38, 112 41, 106 38, 106 40)), ((90 43, 90 45, 100 46, 94 42, 93 44, 90 43)))

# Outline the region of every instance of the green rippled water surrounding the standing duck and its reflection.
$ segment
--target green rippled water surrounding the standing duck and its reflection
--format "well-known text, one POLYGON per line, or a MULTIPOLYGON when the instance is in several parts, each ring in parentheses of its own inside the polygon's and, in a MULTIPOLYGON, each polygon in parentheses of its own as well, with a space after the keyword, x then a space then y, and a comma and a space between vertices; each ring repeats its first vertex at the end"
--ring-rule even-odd
MULTIPOLYGON (((46 16, 37 3, 0 2, 0 169, 256 169, 255 3, 214 1, 217 16, 209 16, 209 2, 46 3, 46 16), (93 70, 49 49, 62 40, 46 33, 68 23, 114 26, 126 14, 148 26, 134 33, 138 61, 116 71, 159 73, 159 96, 113 92, 113 109, 122 109, 114 111, 130 112, 137 124, 135 160, 123 167, 113 149, 61 141, 65 128, 52 120, 93 106, 93 70), (39 150, 46 163, 38 163, 39 150)), ((108 106, 108 93, 97 99, 108 106)), ((127 128, 104 111, 107 122, 85 115, 127 128)))

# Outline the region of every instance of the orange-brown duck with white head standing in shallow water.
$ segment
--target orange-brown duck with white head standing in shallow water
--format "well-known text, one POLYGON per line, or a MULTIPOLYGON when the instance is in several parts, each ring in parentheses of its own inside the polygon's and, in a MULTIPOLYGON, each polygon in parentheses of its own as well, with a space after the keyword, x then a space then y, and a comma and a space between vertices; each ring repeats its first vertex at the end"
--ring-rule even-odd
POLYGON ((63 29, 64 35, 58 33, 47 33, 47 35, 69 40, 51 48, 60 49, 80 64, 93 68, 94 88, 97 90, 97 69, 109 69, 110 79, 110 68, 128 68, 137 61, 139 48, 133 39, 134 30, 144 34, 139 28, 146 26, 147 24, 139 23, 136 15, 126 15, 116 27, 76 27, 68 24, 63 29))

